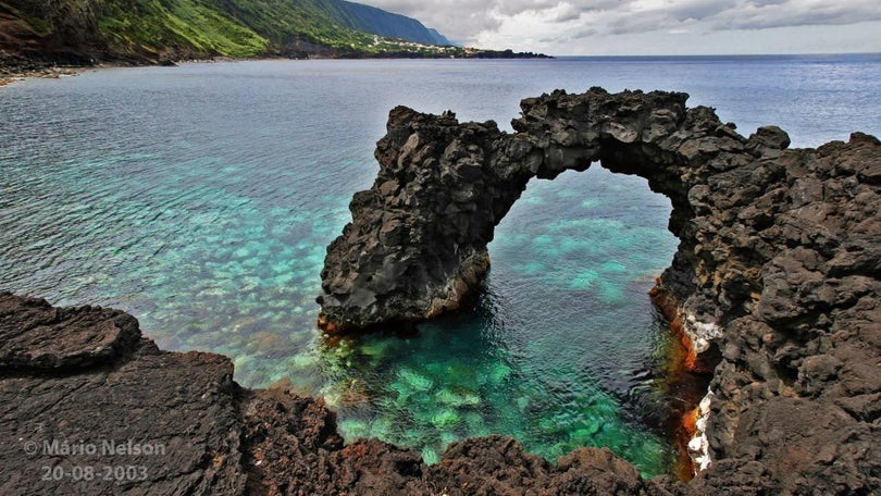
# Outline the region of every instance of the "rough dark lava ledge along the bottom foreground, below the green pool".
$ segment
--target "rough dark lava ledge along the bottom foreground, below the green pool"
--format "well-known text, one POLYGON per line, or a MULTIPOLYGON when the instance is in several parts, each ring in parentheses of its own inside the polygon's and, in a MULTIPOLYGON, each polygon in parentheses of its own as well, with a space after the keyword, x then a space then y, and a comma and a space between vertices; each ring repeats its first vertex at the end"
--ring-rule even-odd
POLYGON ((344 446, 321 400, 248 390, 225 357, 157 349, 117 310, 0 294, 0 494, 670 494, 608 449, 551 467, 513 439, 452 445, 436 466, 344 446))

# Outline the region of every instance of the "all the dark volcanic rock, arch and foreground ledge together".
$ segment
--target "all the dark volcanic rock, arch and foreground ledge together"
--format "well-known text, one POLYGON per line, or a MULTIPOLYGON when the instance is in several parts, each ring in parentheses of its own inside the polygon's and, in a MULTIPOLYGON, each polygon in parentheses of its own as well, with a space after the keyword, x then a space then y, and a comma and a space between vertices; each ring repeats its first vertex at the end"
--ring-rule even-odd
POLYGON ((782 129, 743 137, 686 98, 555 91, 522 101, 514 134, 394 109, 377 178, 328 247, 320 326, 406 326, 468 305, 531 177, 594 161, 643 176, 680 239, 652 298, 685 367, 712 377, 682 419, 690 482, 646 480, 605 448, 551 463, 501 436, 431 466, 377 439, 345 445, 296 385, 243 388, 227 358, 161 351, 117 310, 0 294, 0 493, 881 492, 881 142, 791 150, 782 129))

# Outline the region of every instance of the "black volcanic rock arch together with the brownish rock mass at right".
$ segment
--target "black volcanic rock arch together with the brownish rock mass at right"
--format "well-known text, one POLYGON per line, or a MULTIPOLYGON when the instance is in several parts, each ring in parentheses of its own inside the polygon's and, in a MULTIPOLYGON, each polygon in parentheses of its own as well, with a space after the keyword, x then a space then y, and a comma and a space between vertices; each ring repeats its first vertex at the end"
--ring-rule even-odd
POLYGON ((686 98, 555 91, 521 102, 514 134, 394 109, 376 181, 327 248, 319 323, 347 332, 458 308, 528 181, 599 161, 673 207, 681 243, 654 296, 688 365, 715 373, 691 443, 709 470, 691 487, 878 491, 881 144, 855 133, 786 150, 782 129, 745 138, 686 98))

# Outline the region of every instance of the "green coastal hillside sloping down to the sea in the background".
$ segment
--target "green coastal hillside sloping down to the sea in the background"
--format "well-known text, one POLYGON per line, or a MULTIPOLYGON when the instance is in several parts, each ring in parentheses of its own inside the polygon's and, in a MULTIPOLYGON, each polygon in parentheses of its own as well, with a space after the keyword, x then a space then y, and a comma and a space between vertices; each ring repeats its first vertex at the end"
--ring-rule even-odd
POLYGON ((0 0, 0 66, 218 55, 532 55, 425 40, 446 38, 417 20, 344 0, 0 0))

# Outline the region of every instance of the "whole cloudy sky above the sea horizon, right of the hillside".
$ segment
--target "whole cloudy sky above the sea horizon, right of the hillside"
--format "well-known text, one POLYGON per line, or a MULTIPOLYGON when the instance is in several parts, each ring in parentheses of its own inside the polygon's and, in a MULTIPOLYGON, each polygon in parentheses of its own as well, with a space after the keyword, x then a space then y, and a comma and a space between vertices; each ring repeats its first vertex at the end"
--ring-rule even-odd
POLYGON ((881 0, 360 0, 473 47, 555 55, 881 52, 881 0))

